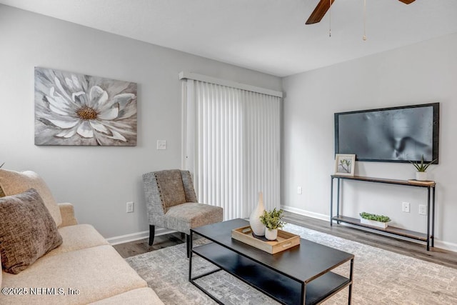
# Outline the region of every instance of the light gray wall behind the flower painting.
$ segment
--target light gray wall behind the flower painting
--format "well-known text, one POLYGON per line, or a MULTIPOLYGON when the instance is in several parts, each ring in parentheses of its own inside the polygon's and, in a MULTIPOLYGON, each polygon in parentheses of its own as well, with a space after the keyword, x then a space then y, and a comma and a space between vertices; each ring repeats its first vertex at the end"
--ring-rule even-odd
POLYGON ((141 174, 181 166, 180 71, 281 91, 276 76, 9 6, 0 5, 0 33, 0 161, 38 172, 106 238, 147 230, 141 174), (34 66, 138 83, 138 145, 34 146, 34 66), (156 150, 158 139, 168 149, 156 150))

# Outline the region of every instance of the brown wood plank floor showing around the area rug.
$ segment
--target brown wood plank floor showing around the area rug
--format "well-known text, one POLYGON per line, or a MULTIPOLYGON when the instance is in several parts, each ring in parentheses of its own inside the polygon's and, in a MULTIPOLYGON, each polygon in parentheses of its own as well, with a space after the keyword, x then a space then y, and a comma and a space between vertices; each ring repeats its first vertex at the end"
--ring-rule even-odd
MULTIPOLYGON (((418 244, 413 241, 405 241, 403 239, 396 239, 391 236, 383 236, 380 234, 363 231, 361 229, 352 228, 350 226, 343 226, 334 223, 330 226, 329 221, 322 221, 313 219, 290 212, 284 212, 284 220, 290 224, 304 226, 308 229, 321 231, 326 234, 357 241, 361 244, 369 246, 376 246, 378 248, 393 251, 398 254, 411 256, 416 259, 423 259, 424 261, 431 261, 436 264, 448 266, 457 269, 457 252, 447 251, 439 248, 431 248, 431 251, 426 251, 425 244, 418 244)), ((156 236, 154 244, 148 245, 148 239, 141 239, 139 241, 131 241, 125 244, 118 244, 114 249, 121 254, 122 257, 127 258, 138 254, 144 254, 149 251, 162 249, 166 246, 174 246, 186 241, 184 234, 174 233, 163 236, 156 236)))

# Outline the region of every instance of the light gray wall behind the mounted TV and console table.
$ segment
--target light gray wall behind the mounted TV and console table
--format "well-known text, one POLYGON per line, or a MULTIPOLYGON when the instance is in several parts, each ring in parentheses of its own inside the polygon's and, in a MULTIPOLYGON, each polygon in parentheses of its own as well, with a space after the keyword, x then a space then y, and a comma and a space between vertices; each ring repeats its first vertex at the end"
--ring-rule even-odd
MULTIPOLYGON (((369 41, 367 42, 369 43, 369 41)), ((440 164, 428 170, 436 180, 438 245, 457 251, 457 34, 424 41, 283 79, 283 179, 286 209, 328 219, 330 175, 334 170, 333 113, 410 104, 441 103, 440 164), (297 194, 297 186, 303 194, 297 194)), ((357 162, 356 174, 414 179, 411 164, 357 162)), ((392 225, 426 231, 426 191, 404 186, 348 182, 343 214, 388 215, 392 225), (401 203, 411 203, 411 213, 401 203)))

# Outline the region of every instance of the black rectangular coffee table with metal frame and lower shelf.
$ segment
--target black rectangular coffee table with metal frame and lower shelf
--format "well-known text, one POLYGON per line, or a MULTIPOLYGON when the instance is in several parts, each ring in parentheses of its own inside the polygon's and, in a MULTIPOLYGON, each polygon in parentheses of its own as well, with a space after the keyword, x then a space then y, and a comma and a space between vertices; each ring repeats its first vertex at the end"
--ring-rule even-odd
POLYGON ((194 234, 213 241, 196 247, 191 244, 189 281, 192 284, 211 299, 223 304, 195 280, 224 270, 282 304, 317 304, 346 286, 349 286, 348 304, 351 304, 353 254, 306 239, 300 239, 300 246, 268 254, 231 238, 232 229, 248 224, 246 220, 233 219, 191 229, 191 242, 194 234), (192 276, 193 254, 215 264, 219 269, 192 276), (347 261, 351 261, 349 278, 331 272, 347 261))

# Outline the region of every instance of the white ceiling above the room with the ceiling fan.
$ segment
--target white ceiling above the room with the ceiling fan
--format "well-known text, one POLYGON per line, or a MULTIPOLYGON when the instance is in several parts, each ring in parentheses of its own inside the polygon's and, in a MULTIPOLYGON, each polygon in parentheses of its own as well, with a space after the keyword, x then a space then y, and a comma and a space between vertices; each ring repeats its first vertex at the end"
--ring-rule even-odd
POLYGON ((318 0, 0 0, 159 46, 288 76, 457 33, 457 0, 336 0, 305 25, 318 0))

